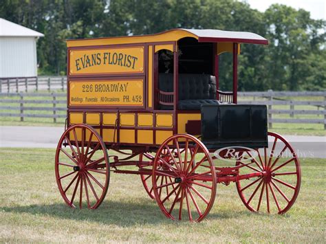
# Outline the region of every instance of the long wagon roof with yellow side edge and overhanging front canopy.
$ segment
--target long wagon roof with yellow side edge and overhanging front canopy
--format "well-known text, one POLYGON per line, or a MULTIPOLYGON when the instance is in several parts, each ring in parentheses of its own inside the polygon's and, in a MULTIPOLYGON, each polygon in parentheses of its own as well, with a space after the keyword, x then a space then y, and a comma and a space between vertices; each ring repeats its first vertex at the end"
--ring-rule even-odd
POLYGON ((268 45, 268 40, 251 32, 230 32, 224 30, 173 29, 157 34, 141 36, 117 36, 102 38, 85 38, 67 40, 67 47, 83 47, 91 45, 120 45, 131 43, 155 43, 163 41, 179 41, 181 38, 193 37, 199 42, 209 43, 252 43, 268 45))

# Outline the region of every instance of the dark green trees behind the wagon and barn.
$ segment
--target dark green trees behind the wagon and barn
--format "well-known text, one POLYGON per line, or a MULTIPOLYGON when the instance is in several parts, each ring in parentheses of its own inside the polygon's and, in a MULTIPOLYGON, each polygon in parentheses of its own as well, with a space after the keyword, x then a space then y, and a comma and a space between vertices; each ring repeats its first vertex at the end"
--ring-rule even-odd
MULTIPOLYGON (((305 10, 265 12, 235 0, 3 0, 0 17, 45 34, 41 74, 65 74, 67 38, 153 34, 176 27, 248 31, 270 45, 241 45, 239 90, 326 89, 326 21, 305 10)), ((232 87, 232 56, 221 54, 221 89, 232 87)))

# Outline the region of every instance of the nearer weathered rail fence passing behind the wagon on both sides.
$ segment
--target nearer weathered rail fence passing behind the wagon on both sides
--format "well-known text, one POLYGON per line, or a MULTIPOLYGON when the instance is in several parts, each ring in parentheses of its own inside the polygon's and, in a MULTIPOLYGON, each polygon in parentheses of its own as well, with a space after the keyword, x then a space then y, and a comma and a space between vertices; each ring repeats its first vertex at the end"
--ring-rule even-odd
MULTIPOLYGON (((28 117, 53 118, 53 121, 56 122, 56 118, 66 117, 65 114, 56 113, 57 111, 66 111, 66 106, 63 105, 66 104, 66 96, 66 93, 0 93, 0 117, 20 117, 21 121, 28 117), (35 104, 38 104, 38 107, 35 107, 35 104), (44 106, 52 104, 52 106, 41 107, 42 104, 44 106), (62 104, 61 107, 58 104, 62 104), (25 111, 39 112, 26 113, 25 111), (52 111, 52 114, 44 114, 42 111, 52 111)), ((299 123, 324 124, 324 129, 326 129, 326 91, 239 92, 238 103, 267 105, 269 128, 272 128, 274 123, 299 123), (318 99, 316 99, 317 97, 318 99), (309 99, 307 100, 307 98, 309 99), (282 105, 285 108, 273 108, 276 105, 282 105), (300 108, 302 105, 305 105, 305 109, 300 108), (309 109, 306 108, 308 106, 309 109), (290 115, 290 118, 274 118, 275 115, 290 115), (309 118, 294 118, 294 115, 309 115, 309 118)))

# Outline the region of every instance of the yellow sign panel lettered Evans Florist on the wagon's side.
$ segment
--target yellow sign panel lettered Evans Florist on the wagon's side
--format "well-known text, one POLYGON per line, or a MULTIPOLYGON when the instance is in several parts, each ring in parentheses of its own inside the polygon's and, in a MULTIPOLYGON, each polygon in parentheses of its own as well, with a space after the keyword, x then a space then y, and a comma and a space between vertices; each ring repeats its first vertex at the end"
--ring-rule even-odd
POLYGON ((80 49, 69 52, 69 74, 125 74, 144 71, 144 47, 80 49))

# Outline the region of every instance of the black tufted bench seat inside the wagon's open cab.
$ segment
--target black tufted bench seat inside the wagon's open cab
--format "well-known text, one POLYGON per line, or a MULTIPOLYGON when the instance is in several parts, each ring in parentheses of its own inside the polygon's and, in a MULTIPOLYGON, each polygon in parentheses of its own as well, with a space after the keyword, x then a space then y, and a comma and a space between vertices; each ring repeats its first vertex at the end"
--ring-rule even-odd
MULTIPOLYGON (((173 91, 173 74, 160 74, 160 91, 173 91)), ((215 76, 209 74, 179 74, 180 110, 200 110, 202 104, 219 104, 216 98, 215 76)), ((160 109, 173 109, 172 106, 160 105, 160 109)))

